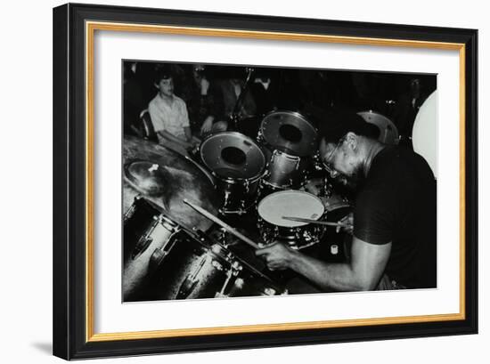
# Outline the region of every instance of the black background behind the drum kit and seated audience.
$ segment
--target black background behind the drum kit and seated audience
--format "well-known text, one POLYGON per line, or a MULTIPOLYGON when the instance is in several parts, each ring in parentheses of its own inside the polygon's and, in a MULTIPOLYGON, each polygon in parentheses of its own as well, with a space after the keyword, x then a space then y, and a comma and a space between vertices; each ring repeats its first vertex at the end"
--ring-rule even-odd
MULTIPOLYGON (((204 116, 200 115, 199 85, 194 80, 194 66, 190 63, 123 61, 125 133, 133 133, 131 125, 138 125, 142 110, 158 91, 153 84, 156 73, 166 69, 174 78, 175 94, 187 105, 192 132, 199 134, 204 116)), ((244 66, 204 66, 200 77, 208 79, 209 93, 216 93, 216 85, 226 79, 234 78, 243 84, 249 70, 244 66)), ((247 93, 255 103, 252 113, 258 119, 273 109, 301 112, 309 106, 355 112, 373 110, 391 119, 403 138, 412 136, 413 121, 421 104, 437 88, 437 76, 431 74, 251 67, 253 73, 247 93), (258 80, 270 80, 270 84, 265 89, 258 80)), ((222 98, 223 94, 215 97, 222 98)), ((215 105, 214 112, 220 119, 227 117, 219 105, 215 105)))

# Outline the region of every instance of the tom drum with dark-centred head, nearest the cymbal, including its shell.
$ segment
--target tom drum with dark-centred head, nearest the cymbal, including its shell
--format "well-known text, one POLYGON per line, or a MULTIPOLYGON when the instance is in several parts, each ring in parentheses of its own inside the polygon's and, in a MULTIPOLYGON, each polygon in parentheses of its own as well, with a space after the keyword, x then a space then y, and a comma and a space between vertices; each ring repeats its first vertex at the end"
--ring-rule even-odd
POLYGON ((237 132, 216 133, 200 145, 200 158, 216 177, 221 214, 244 214, 257 200, 265 172, 265 154, 256 142, 237 132))

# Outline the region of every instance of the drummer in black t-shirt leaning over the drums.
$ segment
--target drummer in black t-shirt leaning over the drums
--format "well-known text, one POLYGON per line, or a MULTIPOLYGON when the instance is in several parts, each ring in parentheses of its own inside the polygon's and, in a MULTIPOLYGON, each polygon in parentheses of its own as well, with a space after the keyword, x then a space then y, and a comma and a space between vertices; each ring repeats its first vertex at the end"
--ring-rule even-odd
POLYGON ((322 290, 436 287, 436 181, 427 162, 372 139, 355 113, 323 118, 323 166, 356 190, 351 259, 325 263, 280 243, 256 254, 269 269, 289 268, 322 290))

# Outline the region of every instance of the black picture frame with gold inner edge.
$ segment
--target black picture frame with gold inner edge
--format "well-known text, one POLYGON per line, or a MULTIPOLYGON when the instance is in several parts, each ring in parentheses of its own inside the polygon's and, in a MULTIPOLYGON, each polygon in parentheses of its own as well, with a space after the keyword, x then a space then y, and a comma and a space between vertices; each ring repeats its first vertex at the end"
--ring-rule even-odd
MULTIPOLYGON (((65 4, 53 9, 53 354, 66 360, 478 333, 478 32, 65 4), (452 50, 459 57, 459 311, 98 333, 94 330, 94 34, 452 50)), ((439 157, 441 158, 441 157, 439 157)))

